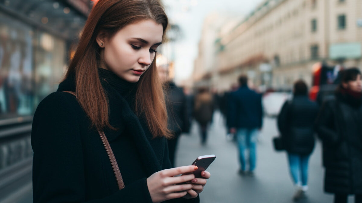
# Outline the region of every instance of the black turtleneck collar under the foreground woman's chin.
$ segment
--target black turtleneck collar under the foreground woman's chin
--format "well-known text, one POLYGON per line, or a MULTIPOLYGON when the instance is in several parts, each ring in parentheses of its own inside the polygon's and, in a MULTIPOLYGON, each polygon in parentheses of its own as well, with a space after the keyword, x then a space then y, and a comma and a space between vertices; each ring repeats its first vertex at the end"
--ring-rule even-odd
POLYGON ((115 73, 110 70, 103 68, 98 68, 99 78, 102 81, 106 81, 110 86, 119 92, 124 98, 129 97, 130 95, 135 94, 136 83, 131 83, 125 81, 124 79, 118 77, 115 73))

